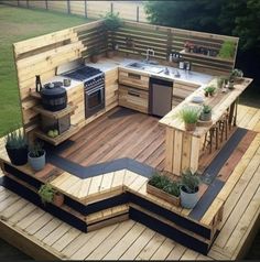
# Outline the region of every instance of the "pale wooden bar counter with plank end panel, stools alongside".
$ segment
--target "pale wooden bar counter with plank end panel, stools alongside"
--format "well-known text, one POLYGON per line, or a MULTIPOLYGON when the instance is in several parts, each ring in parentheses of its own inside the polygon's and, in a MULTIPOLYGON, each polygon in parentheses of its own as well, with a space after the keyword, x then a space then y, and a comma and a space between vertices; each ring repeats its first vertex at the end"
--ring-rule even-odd
MULTIPOLYGON (((242 83, 236 84, 235 89, 229 90, 227 94, 217 92, 214 97, 204 98, 205 102, 213 107, 213 117, 210 125, 196 127, 194 132, 187 132, 184 123, 178 119, 178 111, 185 106, 199 107, 192 102, 195 96, 204 97, 204 88, 202 86, 189 95, 183 102, 170 111, 159 122, 166 127, 166 160, 165 170, 175 174, 181 173, 187 168, 193 172, 197 171, 199 164, 199 152, 202 149, 202 139, 208 130, 216 124, 220 117, 230 108, 230 111, 236 110, 235 103, 241 92, 251 84, 252 79, 245 78, 242 83)), ((212 84, 216 85, 216 79, 212 84)), ((236 125, 236 120, 232 124, 236 125)))

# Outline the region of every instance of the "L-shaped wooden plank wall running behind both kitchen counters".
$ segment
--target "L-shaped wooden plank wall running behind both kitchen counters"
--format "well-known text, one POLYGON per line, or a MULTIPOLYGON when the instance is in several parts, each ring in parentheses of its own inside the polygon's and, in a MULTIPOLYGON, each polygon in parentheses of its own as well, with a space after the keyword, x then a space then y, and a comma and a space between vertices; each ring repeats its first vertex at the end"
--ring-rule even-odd
MULTIPOLYGON (((25 130, 30 131, 37 125, 37 113, 32 110, 36 100, 30 97, 30 88, 35 86, 35 75, 41 75, 42 81, 46 81, 55 75, 57 66, 76 58, 87 58, 95 48, 102 54, 112 41, 119 45, 119 52, 124 56, 138 54, 138 58, 144 58, 147 48, 151 47, 155 51, 154 58, 163 64, 173 50, 180 51, 188 40, 216 48, 225 40, 238 43, 237 37, 129 21, 124 21, 112 39, 104 30, 101 20, 15 43, 14 58, 25 130), (132 37, 134 47, 127 45, 127 37, 132 37)), ((235 58, 236 56, 231 62, 226 62, 202 55, 188 61, 192 61, 194 70, 219 75, 230 73, 235 58)))

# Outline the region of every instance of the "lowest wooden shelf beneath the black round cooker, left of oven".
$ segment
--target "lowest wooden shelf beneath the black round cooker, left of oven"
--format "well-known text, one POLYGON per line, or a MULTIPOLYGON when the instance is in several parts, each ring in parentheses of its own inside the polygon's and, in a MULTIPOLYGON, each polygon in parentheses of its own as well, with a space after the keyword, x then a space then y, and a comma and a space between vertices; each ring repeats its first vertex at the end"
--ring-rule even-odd
POLYGON ((71 128, 67 131, 63 132, 62 134, 57 135, 56 138, 50 138, 47 134, 45 134, 43 131, 41 131, 39 129, 35 130, 34 134, 37 138, 46 141, 51 144, 58 145, 62 142, 64 142, 66 139, 71 138, 73 134, 75 134, 78 130, 79 130, 78 125, 71 125, 71 128))

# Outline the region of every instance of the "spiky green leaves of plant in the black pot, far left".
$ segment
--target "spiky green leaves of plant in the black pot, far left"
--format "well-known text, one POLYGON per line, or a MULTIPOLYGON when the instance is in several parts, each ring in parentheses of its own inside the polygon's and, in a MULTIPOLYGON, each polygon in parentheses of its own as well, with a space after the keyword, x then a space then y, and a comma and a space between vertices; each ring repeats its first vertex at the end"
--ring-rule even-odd
POLYGON ((28 146, 25 133, 19 129, 11 131, 6 137, 6 145, 8 149, 23 149, 28 146))

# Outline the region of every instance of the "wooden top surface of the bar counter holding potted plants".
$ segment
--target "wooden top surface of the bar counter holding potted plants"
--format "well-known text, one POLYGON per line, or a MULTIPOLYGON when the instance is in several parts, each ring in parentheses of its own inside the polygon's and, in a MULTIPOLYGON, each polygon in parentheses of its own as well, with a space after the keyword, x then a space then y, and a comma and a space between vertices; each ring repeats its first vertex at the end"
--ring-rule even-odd
MULTIPOLYGON (((221 92, 217 90, 214 97, 205 97, 204 96, 204 88, 205 86, 199 87, 193 94, 191 94, 183 102, 181 102, 177 107, 175 107, 172 111, 165 114, 159 123, 166 125, 169 128, 176 129, 178 131, 187 132, 184 127, 184 122, 177 117, 180 109, 184 108, 185 106, 194 106, 201 107, 198 103, 192 102, 192 98, 195 96, 201 96, 204 98, 204 103, 212 106, 213 108, 213 123, 216 123, 226 109, 241 95, 241 92, 251 84, 251 78, 243 78, 243 81, 239 84, 235 84, 235 89, 228 90, 227 92, 221 92)), ((213 79, 209 85, 217 85, 216 78, 213 79)), ((188 132, 193 137, 202 138, 212 125, 208 127, 197 127, 194 132, 188 132)))

